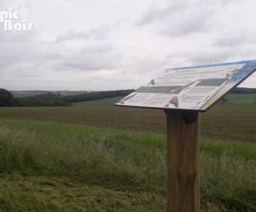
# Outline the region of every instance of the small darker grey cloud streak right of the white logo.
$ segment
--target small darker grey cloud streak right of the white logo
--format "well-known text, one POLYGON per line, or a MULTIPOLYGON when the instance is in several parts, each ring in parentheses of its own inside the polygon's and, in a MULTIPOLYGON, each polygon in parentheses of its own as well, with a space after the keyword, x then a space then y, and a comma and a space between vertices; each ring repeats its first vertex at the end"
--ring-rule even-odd
POLYGON ((111 32, 108 24, 102 24, 100 27, 93 28, 89 31, 68 31, 67 34, 58 36, 55 42, 66 42, 71 40, 89 39, 106 40, 111 32))

